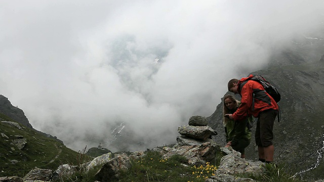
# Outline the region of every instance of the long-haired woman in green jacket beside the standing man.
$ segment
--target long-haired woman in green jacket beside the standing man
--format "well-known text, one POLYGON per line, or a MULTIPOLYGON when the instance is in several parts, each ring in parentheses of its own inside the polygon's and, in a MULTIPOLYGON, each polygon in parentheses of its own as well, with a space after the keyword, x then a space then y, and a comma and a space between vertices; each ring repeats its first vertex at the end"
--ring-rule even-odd
MULTIPOLYGON (((238 108, 240 102, 233 96, 226 95, 224 97, 223 116, 225 114, 233 114, 238 108)), ((224 117, 223 123, 226 133, 226 146, 231 146, 235 151, 241 153, 241 158, 245 158, 245 148, 250 145, 251 142, 251 130, 248 127, 249 119, 244 120, 231 120, 228 117, 224 117)))

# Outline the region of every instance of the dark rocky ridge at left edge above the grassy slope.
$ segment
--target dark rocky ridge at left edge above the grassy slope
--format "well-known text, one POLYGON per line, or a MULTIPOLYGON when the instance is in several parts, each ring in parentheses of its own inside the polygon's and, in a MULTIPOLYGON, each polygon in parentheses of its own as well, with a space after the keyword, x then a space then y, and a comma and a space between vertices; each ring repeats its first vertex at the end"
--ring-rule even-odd
POLYGON ((28 128, 32 128, 25 116, 25 113, 18 107, 13 106, 8 98, 3 95, 0 95, 0 113, 6 114, 16 122, 21 123, 28 128))

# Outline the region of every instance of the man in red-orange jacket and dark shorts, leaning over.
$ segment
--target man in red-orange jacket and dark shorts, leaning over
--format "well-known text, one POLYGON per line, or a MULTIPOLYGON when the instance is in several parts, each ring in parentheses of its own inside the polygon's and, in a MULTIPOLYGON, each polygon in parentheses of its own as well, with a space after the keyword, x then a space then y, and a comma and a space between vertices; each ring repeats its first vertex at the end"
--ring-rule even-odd
POLYGON ((249 115, 258 118, 255 131, 255 141, 258 146, 259 161, 270 163, 273 161, 274 147, 273 123, 278 114, 278 105, 273 98, 265 92, 261 83, 248 80, 250 75, 240 80, 233 78, 228 82, 228 91, 241 96, 241 105, 233 114, 226 117, 242 120, 249 115))

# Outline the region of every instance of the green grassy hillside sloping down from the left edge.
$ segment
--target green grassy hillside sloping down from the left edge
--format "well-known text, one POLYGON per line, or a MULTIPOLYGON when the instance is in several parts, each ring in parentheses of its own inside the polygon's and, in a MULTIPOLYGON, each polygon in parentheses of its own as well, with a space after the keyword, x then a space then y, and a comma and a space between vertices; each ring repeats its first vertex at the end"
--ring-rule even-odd
MULTIPOLYGON (((8 116, 0 113, 1 121, 13 121, 8 116)), ((47 138, 20 124, 18 129, 7 123, 0 122, 0 133, 4 133, 9 139, 0 136, 0 176, 17 175, 23 177, 32 168, 47 168, 55 170, 61 164, 77 165, 78 153, 68 149, 56 140, 47 138), (27 144, 21 150, 11 145, 15 135, 21 135, 27 144), (14 150, 12 150, 14 149, 14 150), (17 160, 13 164, 11 160, 17 160)))

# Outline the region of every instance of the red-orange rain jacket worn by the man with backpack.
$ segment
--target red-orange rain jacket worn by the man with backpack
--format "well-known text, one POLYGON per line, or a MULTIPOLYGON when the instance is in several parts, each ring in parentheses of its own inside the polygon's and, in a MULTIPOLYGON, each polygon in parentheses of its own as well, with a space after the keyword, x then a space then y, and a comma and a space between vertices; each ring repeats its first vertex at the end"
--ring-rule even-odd
POLYGON ((249 115, 258 117, 261 111, 279 109, 277 103, 265 92, 261 83, 254 80, 246 81, 251 77, 253 77, 252 74, 238 81, 237 91, 241 96, 241 104, 233 113, 234 120, 242 120, 247 117, 248 113, 249 115))

